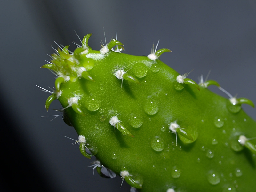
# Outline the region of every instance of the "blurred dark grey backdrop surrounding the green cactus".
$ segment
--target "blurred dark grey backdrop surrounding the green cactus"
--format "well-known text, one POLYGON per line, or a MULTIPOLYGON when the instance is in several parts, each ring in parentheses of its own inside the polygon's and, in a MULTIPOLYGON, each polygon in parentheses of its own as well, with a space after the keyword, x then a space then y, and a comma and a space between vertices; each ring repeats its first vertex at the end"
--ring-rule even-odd
MULTIPOLYGON (((53 42, 71 45, 93 33, 89 46, 100 49, 115 37, 124 53, 148 55, 152 43, 169 48, 161 60, 189 78, 207 75, 232 95, 256 103, 256 1, 116 1, 116 0, 9 0, 0 3, 0 191, 129 191, 121 178, 92 175, 92 160, 84 158, 68 136, 77 134, 49 112, 48 95, 35 86, 54 86, 54 75, 40 66, 53 53, 53 42)), ((216 87, 210 88, 221 94, 216 87)), ((244 110, 256 119, 250 106, 244 110)))

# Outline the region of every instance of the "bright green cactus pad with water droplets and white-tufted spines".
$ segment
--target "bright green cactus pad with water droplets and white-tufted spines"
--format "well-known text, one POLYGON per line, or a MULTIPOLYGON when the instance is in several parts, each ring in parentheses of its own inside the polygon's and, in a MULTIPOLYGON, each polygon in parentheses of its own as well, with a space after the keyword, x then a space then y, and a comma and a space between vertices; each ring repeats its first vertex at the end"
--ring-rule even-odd
POLYGON ((132 56, 112 40, 95 51, 91 35, 74 53, 55 50, 42 68, 58 77, 46 109, 60 101, 98 173, 107 167, 145 192, 255 191, 256 142, 248 138, 256 123, 241 109, 254 107, 250 100, 223 98, 207 88, 220 87, 216 81, 179 75, 159 60, 168 49, 132 56))

